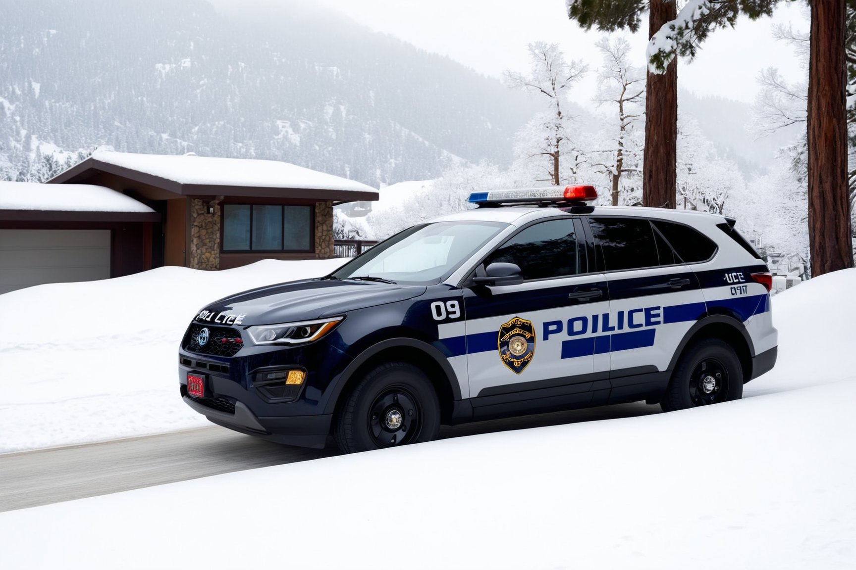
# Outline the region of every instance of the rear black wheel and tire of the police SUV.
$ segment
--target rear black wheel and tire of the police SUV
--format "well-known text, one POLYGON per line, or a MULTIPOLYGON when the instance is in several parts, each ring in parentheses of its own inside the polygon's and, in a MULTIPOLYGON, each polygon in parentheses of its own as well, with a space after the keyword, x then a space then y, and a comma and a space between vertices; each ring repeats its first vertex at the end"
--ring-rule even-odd
POLYGON ((660 401, 664 412, 696 408, 743 397, 743 367, 730 344, 708 338, 678 360, 660 401))

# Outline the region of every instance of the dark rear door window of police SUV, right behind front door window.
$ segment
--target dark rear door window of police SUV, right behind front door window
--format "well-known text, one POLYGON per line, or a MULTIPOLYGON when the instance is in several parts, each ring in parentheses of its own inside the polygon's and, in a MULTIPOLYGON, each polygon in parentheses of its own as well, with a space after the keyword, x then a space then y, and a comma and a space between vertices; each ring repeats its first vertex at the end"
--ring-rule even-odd
POLYGON ((591 218, 591 232, 600 249, 607 271, 657 267, 657 244, 648 220, 634 218, 591 218))

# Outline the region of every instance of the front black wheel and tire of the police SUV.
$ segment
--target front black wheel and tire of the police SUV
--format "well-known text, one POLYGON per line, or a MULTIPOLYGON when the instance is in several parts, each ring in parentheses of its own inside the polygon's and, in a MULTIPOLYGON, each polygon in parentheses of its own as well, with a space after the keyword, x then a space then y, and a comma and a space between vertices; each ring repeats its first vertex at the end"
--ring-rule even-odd
POLYGON ((333 438, 345 453, 419 444, 437 438, 440 402, 431 380, 407 362, 386 362, 354 386, 336 417, 333 438))

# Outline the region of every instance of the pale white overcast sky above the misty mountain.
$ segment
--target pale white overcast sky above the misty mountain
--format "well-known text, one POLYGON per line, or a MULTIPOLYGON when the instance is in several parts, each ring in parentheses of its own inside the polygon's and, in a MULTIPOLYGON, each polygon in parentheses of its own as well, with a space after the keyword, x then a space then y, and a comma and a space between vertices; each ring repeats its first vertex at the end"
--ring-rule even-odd
MULTIPOLYGON (((211 0, 218 6, 289 0, 211 0)), ((304 0, 305 1, 305 0, 304 0)), ((529 68, 526 45, 545 40, 562 46, 568 59, 582 59, 591 69, 601 56, 594 47, 598 32, 585 32, 565 13, 564 0, 315 0, 378 32, 393 34, 424 50, 437 52, 477 71, 499 77, 506 69, 529 68)), ((773 18, 738 21, 734 30, 717 30, 691 63, 681 62, 681 87, 698 95, 719 95, 752 103, 762 68, 776 67, 788 79, 805 72, 787 44, 770 34, 773 23, 808 30, 802 3, 780 3, 773 18)), ((647 21, 631 40, 636 65, 645 64, 647 21)), ((593 93, 593 73, 573 98, 586 103, 593 93)))

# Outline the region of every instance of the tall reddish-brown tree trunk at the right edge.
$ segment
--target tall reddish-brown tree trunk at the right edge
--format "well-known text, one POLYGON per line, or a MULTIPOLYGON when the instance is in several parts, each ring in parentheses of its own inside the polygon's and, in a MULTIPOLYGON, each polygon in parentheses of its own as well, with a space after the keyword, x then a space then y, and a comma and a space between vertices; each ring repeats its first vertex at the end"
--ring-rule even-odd
POLYGON ((808 232, 811 274, 853 267, 847 196, 846 0, 811 0, 808 232))

